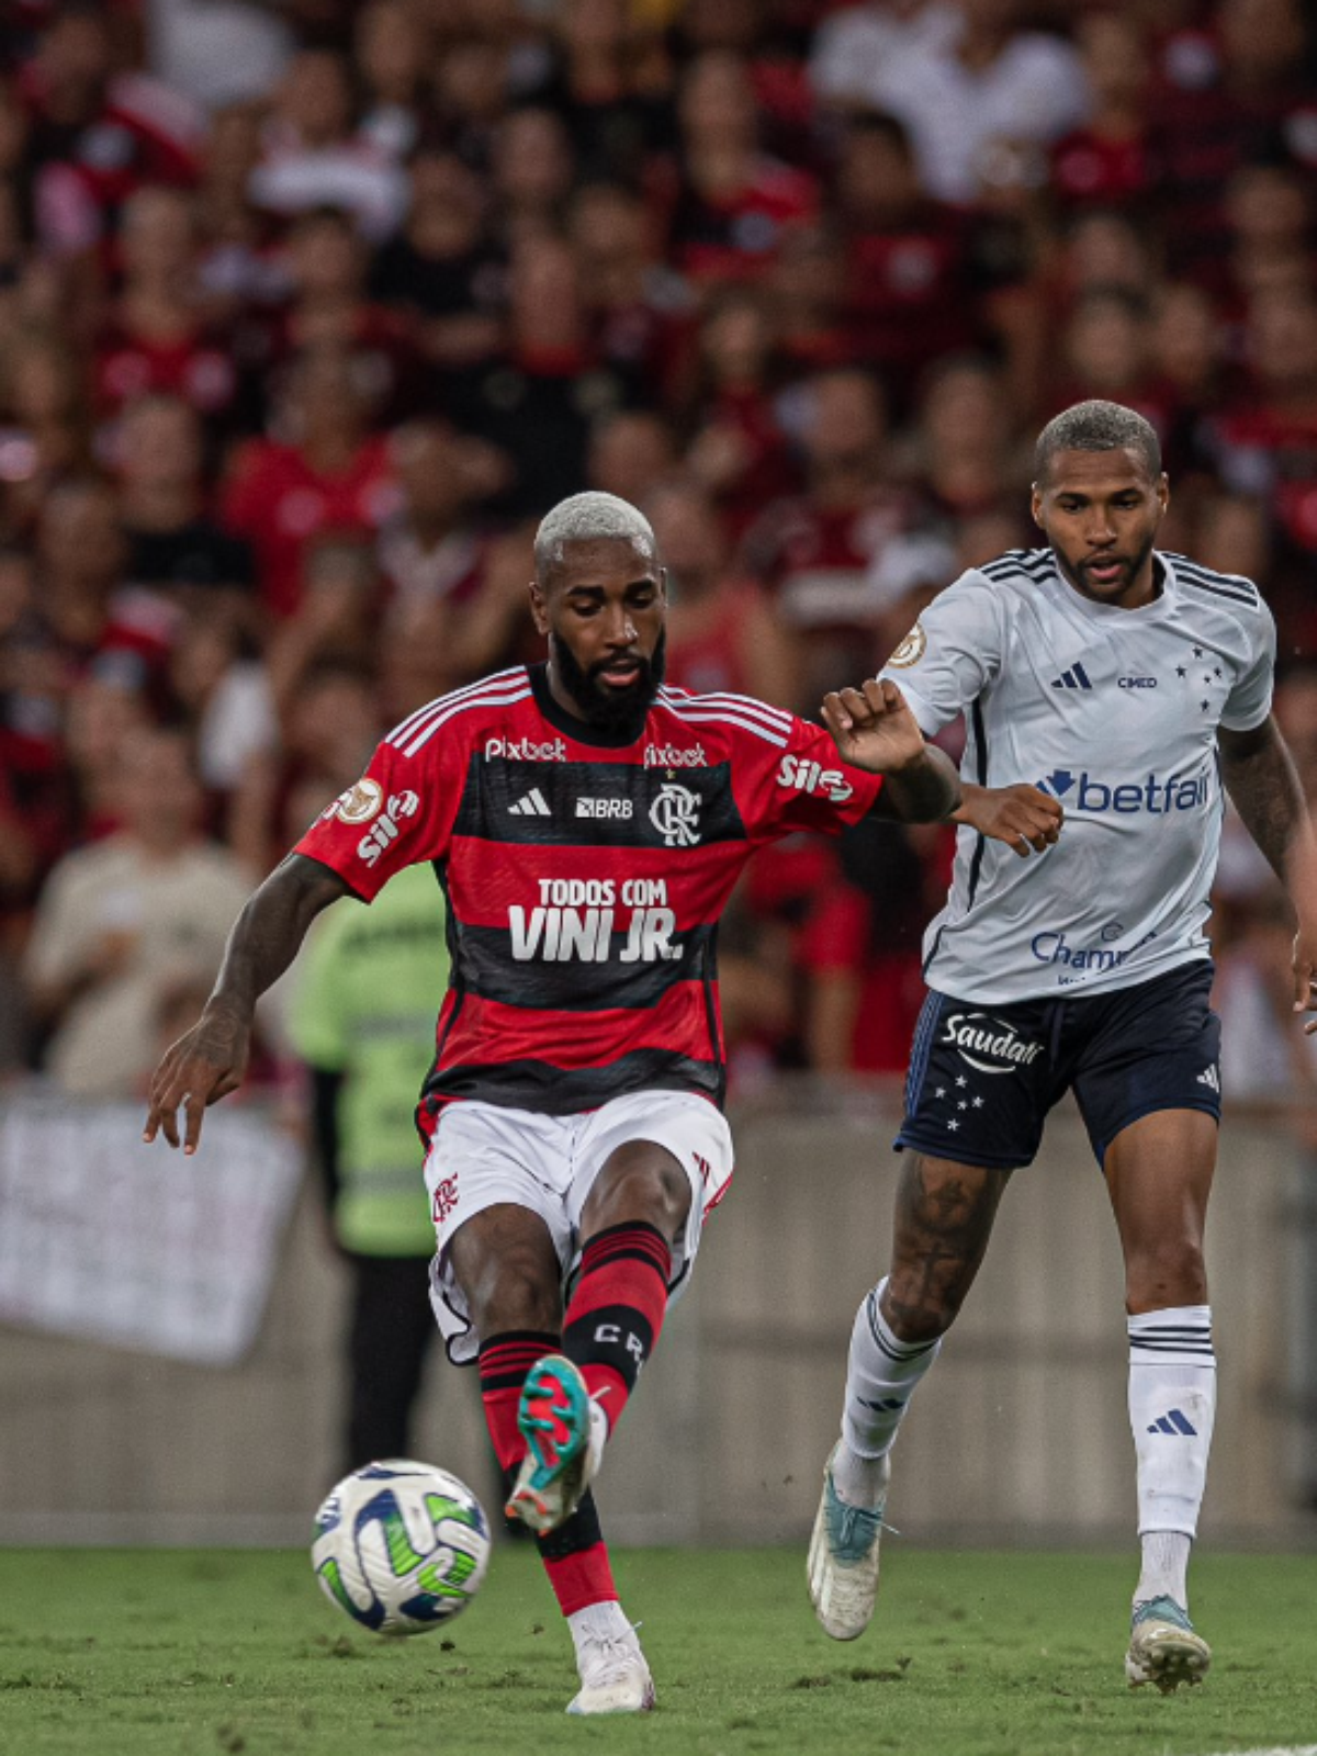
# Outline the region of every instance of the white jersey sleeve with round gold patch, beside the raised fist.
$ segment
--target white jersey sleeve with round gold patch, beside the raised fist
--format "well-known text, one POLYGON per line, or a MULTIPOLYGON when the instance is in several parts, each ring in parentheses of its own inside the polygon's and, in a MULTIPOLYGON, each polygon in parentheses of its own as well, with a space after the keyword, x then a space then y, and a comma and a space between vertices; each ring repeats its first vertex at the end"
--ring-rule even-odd
POLYGON ((896 683, 925 738, 950 725, 997 676, 1003 660, 1001 594, 982 572, 964 572, 929 604, 880 676, 896 683))

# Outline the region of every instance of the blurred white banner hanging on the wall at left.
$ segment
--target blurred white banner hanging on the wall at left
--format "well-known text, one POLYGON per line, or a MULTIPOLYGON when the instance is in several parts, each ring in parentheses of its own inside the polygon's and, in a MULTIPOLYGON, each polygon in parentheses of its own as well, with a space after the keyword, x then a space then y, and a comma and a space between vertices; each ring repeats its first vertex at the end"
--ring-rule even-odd
POLYGON ((302 1155, 212 1110, 195 1157, 142 1145, 142 1105, 0 1101, 0 1322, 228 1366, 269 1298, 302 1155))

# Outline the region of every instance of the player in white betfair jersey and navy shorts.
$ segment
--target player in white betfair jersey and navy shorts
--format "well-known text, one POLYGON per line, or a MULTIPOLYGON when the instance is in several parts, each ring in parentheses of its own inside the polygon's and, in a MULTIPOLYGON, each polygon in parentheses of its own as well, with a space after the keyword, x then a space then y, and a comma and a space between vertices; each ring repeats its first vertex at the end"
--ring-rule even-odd
MULTIPOLYGON (((1048 546, 971 567, 883 671, 925 736, 966 716, 964 802, 950 897, 925 939, 890 1270, 855 1319, 808 1577, 827 1633, 862 1633, 906 1405, 973 1285, 1008 1177, 1073 1090, 1126 1264, 1143 1556, 1126 1675, 1171 1691, 1210 1661, 1185 1573, 1217 1377, 1203 1220, 1220 1026, 1205 927, 1222 787, 1298 917, 1296 1011, 1317 1006, 1317 853, 1270 711, 1268 608, 1249 579, 1157 551, 1166 506, 1140 414, 1066 409, 1036 450, 1048 546), (989 839, 1008 806, 1022 813, 1018 860, 989 839), (1036 832, 1061 811, 1047 845, 1036 832)), ((855 692, 832 697, 843 730, 864 713, 855 692)))

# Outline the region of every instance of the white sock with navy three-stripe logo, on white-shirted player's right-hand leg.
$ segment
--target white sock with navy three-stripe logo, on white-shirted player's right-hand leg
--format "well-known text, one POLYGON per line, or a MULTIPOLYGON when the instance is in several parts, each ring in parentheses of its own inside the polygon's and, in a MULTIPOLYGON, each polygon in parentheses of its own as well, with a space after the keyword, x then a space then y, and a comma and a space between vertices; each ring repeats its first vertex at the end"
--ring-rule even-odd
POLYGON ((1131 1317, 1129 1426, 1143 1540, 1136 1603, 1164 1594, 1187 1607, 1185 1570, 1198 1535, 1215 1414, 1212 1306, 1178 1305, 1131 1317))

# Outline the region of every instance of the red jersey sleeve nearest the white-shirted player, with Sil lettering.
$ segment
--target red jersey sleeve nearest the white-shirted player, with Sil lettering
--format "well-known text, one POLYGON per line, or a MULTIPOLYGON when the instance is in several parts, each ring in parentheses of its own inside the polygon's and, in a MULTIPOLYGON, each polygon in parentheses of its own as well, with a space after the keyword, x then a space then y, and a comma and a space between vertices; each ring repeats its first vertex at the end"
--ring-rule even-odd
POLYGON ((738 806, 753 841, 773 841, 797 829, 841 834, 873 810, 882 774, 852 767, 822 725, 790 722, 785 745, 748 739, 738 764, 738 806), (748 783, 745 771, 750 769, 748 783))

